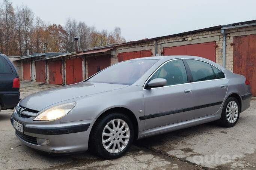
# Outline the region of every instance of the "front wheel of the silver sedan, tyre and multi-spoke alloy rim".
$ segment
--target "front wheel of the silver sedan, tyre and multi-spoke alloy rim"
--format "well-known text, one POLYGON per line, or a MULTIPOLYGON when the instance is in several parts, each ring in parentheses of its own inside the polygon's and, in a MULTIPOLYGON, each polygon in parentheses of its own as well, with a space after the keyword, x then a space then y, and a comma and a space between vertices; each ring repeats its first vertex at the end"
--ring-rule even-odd
POLYGON ((124 155, 134 139, 133 124, 122 113, 111 113, 99 118, 93 126, 89 149, 99 157, 115 159, 124 155))

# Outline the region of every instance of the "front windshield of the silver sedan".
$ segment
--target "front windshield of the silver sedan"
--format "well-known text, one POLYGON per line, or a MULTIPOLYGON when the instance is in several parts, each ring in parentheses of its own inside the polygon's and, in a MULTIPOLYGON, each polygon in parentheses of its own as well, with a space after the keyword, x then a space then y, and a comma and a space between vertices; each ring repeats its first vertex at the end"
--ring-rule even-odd
POLYGON ((104 69, 86 82, 131 85, 158 60, 131 60, 104 69))

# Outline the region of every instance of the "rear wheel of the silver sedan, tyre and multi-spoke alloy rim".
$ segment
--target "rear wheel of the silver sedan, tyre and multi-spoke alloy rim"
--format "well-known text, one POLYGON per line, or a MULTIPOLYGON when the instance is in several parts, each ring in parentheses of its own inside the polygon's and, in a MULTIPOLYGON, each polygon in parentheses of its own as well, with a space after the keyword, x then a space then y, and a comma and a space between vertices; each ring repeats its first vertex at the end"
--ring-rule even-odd
POLYGON ((233 127, 237 123, 240 114, 239 102, 234 97, 227 98, 224 103, 220 123, 224 127, 233 127))

